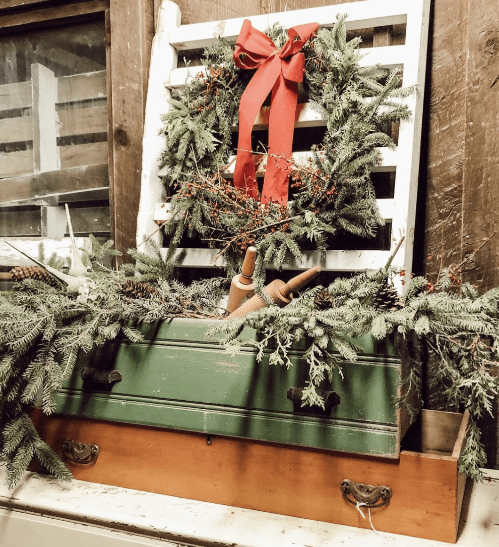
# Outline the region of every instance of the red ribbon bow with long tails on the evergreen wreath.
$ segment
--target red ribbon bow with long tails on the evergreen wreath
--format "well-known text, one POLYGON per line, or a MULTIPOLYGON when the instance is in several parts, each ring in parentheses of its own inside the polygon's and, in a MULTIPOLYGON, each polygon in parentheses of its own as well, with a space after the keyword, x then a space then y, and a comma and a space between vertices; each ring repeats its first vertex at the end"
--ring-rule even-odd
POLYGON ((298 102, 298 82, 303 81, 305 56, 302 46, 319 28, 317 23, 290 28, 289 38, 277 50, 272 40, 251 26, 246 19, 234 50, 234 62, 239 68, 257 68, 244 90, 239 104, 239 139, 234 186, 258 199, 255 165, 251 154, 251 130, 260 108, 272 91, 268 122, 269 154, 261 203, 287 203, 287 186, 291 157, 295 112, 298 102), (243 57, 241 57, 243 55, 243 57))

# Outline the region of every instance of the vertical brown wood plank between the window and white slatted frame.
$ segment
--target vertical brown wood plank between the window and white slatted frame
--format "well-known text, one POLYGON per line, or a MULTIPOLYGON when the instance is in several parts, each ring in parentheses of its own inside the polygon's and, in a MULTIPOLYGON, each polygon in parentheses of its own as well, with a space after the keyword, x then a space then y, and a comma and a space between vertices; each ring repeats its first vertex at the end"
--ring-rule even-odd
POLYGON ((110 0, 109 4, 110 208, 112 237, 121 251, 136 245, 145 90, 154 35, 152 8, 146 0, 110 0))

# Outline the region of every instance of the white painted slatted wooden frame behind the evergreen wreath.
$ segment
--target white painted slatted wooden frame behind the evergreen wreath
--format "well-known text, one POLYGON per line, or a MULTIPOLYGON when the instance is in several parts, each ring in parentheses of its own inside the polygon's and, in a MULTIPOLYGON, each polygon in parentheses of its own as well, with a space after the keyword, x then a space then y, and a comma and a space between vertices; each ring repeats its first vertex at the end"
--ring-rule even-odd
MULTIPOLYGON (((180 11, 173 2, 163 1, 158 20, 155 40, 152 45, 148 97, 146 102, 143 169, 140 206, 137 219, 137 245, 141 251, 148 251, 145 238, 161 242, 154 218, 155 205, 162 201, 161 173, 158 160, 165 147, 161 135, 161 114, 169 109, 169 90, 181 88, 189 78, 202 67, 177 68, 178 56, 183 51, 204 48, 215 43, 218 37, 236 40, 244 19, 261 30, 275 22, 289 28, 304 22, 320 22, 321 26, 332 26, 338 13, 347 13, 345 24, 348 30, 387 25, 406 25, 406 40, 403 45, 365 48, 362 62, 366 65, 379 63, 384 67, 403 68, 403 86, 415 86, 415 94, 406 103, 412 115, 400 123, 398 146, 395 151, 382 150, 381 165, 374 170, 395 171, 395 192, 392 199, 378 200, 381 214, 391 220, 392 232, 390 249, 385 251, 328 251, 325 255, 307 252, 301 264, 290 263, 290 269, 306 269, 320 265, 323 270, 359 271, 383 266, 404 236, 404 242, 397 252, 394 264, 412 269, 413 240, 418 188, 421 123, 423 95, 425 88, 426 51, 430 0, 365 0, 342 5, 284 11, 265 15, 250 16, 225 21, 180 25, 180 11), (152 235, 152 236, 151 236, 152 235)), ((265 125, 266 112, 262 109, 256 123, 265 125)), ((311 108, 303 108, 296 126, 320 125, 322 120, 311 108)), ((156 207, 156 211, 158 207, 156 207)), ((216 249, 187 249, 184 266, 196 267, 215 265, 216 249)), ((216 264, 222 265, 222 263, 216 264)))

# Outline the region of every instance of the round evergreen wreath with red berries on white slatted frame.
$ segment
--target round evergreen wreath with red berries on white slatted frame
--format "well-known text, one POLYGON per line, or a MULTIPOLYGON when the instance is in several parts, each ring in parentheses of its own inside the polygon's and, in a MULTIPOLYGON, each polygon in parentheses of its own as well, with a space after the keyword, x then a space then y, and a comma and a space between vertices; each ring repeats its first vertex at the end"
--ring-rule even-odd
MULTIPOLYGON (((400 87, 398 69, 360 65, 361 38, 347 39, 344 19, 320 28, 302 48, 301 102, 321 113, 326 128, 302 164, 289 160, 287 206, 261 205, 222 174, 233 153, 240 97, 254 73, 234 65, 231 44, 220 39, 206 49, 204 71, 183 91, 172 92, 171 109, 162 117, 161 158, 173 213, 164 224, 171 248, 185 236, 201 238, 220 248, 233 270, 251 245, 259 251, 256 267, 262 272, 264 263, 281 269, 290 255, 300 262, 303 248, 325 251, 331 236, 372 237, 384 224, 369 173, 380 160, 377 147, 394 147, 385 129, 410 115, 401 99, 413 89, 400 87)), ((278 48, 287 38, 277 25, 267 34, 278 48)))

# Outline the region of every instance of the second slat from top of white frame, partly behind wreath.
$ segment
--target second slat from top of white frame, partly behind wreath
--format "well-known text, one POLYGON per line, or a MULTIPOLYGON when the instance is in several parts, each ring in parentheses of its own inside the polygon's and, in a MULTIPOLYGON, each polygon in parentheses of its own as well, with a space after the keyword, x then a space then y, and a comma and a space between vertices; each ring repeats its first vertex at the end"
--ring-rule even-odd
MULTIPOLYGON (((391 69, 397 66, 403 66, 405 55, 405 45, 387 45, 381 48, 365 48, 362 49, 362 59, 359 64, 363 67, 380 65, 381 67, 391 69)), ((168 89, 181 89, 200 72, 203 74, 206 73, 206 68, 203 65, 174 68, 170 72, 170 77, 166 86, 168 89)))

